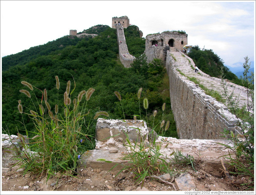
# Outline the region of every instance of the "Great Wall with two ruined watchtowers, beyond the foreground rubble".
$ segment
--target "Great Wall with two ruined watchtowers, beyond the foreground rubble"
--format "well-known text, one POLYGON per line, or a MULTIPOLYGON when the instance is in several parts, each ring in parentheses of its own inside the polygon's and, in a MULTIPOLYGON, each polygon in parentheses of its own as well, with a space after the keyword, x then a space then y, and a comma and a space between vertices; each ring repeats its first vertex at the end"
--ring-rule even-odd
MULTIPOLYGON (((117 29, 119 58, 125 67, 130 67, 135 58, 129 54, 125 43, 123 28, 127 26, 123 26, 122 22, 119 23, 118 19, 112 19, 112 28, 117 29)), ((172 111, 179 138, 224 139, 223 129, 239 133, 235 125, 237 119, 228 111, 227 105, 206 95, 198 84, 189 81, 188 77, 195 77, 207 89, 222 94, 221 79, 210 77, 201 71, 195 73, 192 68, 195 66, 193 60, 181 52, 183 45, 188 43, 187 36, 178 32, 148 35, 145 46, 148 62, 154 58, 166 62, 172 111)), ((244 87, 230 82, 227 82, 227 87, 230 93, 234 90, 234 97, 239 97, 241 106, 246 103, 247 94, 244 87)))

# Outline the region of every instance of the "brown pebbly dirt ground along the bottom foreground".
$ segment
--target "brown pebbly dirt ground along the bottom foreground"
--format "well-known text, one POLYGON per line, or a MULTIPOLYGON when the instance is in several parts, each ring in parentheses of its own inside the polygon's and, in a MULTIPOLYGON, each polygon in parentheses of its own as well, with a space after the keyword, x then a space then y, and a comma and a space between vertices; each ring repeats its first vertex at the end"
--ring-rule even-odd
MULTIPOLYGON (((2 191, 97 191, 97 194, 106 194, 104 191, 148 190, 170 191, 172 194, 175 192, 172 185, 160 183, 160 181, 150 178, 145 180, 142 188, 142 184, 135 184, 134 174, 128 170, 116 176, 116 173, 113 172, 87 167, 81 170, 81 174, 74 176, 56 175, 50 177, 46 183, 45 175, 33 175, 31 173, 23 175, 22 172, 19 172, 22 170, 17 172, 18 168, 16 165, 9 170, 2 169, 2 191)), ((219 165, 214 167, 207 162, 197 161, 196 172, 191 167, 179 166, 175 169, 178 171, 174 178, 181 173, 189 173, 196 186, 195 189, 192 189, 193 191, 245 191, 248 188, 248 186, 241 186, 242 183, 248 182, 248 178, 236 175, 230 175, 228 178, 219 165)), ((175 179, 172 183, 178 190, 175 179)), ((250 191, 253 190, 254 188, 250 191)), ((63 192, 59 193, 63 194, 63 192)), ((1 194, 4 193, 1 192, 1 194)))

